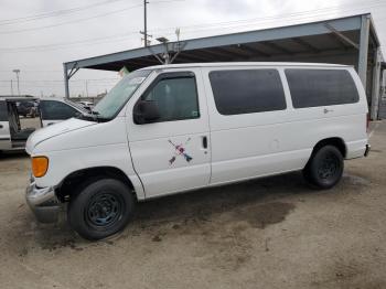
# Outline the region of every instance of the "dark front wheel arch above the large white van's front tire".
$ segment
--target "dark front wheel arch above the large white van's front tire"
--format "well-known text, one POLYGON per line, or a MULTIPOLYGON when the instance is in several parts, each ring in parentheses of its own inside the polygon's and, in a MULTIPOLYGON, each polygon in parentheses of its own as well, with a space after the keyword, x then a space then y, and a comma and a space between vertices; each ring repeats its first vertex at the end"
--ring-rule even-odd
POLYGON ((55 188, 56 196, 61 202, 68 202, 72 195, 79 191, 79 186, 88 181, 101 178, 116 179, 127 184, 137 197, 133 183, 129 176, 116 167, 94 167, 72 172, 55 188))

